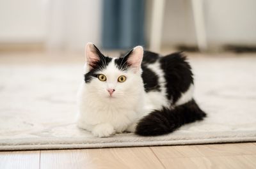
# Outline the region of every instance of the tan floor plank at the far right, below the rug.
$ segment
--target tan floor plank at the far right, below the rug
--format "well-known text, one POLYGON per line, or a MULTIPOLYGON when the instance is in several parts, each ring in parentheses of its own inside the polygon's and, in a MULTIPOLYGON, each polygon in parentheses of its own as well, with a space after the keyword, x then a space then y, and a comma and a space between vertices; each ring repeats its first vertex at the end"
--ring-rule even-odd
POLYGON ((256 168, 255 143, 150 147, 165 168, 256 168))

